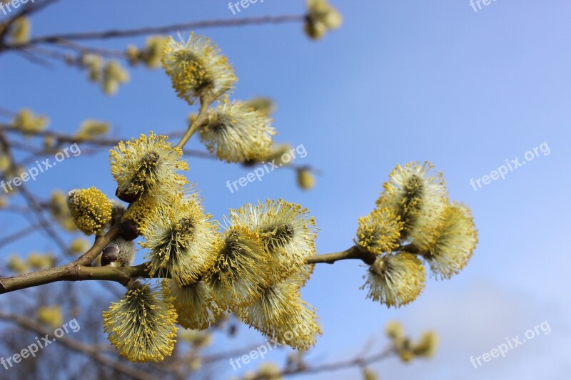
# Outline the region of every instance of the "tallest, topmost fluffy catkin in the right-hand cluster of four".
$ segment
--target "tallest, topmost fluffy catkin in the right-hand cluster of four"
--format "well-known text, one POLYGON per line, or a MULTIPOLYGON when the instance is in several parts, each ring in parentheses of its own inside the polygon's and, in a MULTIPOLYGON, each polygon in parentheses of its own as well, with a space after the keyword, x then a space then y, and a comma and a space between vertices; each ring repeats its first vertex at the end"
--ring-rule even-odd
POLYGON ((401 241, 409 240, 420 250, 435 241, 448 205, 442 173, 432 175, 432 168, 428 162, 397 165, 377 200, 378 207, 393 210, 403 222, 401 241))

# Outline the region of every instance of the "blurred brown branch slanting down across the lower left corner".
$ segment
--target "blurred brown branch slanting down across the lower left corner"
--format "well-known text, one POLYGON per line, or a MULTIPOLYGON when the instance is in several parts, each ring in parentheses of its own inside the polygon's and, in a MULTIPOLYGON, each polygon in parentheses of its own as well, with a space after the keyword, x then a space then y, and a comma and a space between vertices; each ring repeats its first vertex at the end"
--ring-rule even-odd
POLYGON ((111 359, 110 357, 103 355, 101 349, 99 349, 97 346, 90 346, 82 342, 79 342, 76 339, 71 339, 65 336, 58 338, 54 335, 53 331, 46 329, 44 326, 34 322, 32 319, 22 317, 16 314, 8 314, 1 311, 0 311, 0 319, 3 319, 4 321, 14 322, 15 324, 19 325, 19 327, 30 330, 32 332, 36 332, 43 337, 47 336, 52 342, 58 342, 59 344, 62 344, 69 349, 81 352, 81 354, 89 356, 94 361, 103 364, 104 366, 108 366, 109 368, 114 369, 115 371, 121 372, 121 374, 131 376, 134 379, 140 379, 140 380, 157 379, 155 376, 151 376, 145 371, 139 371, 138 369, 135 369, 127 364, 121 363, 121 361, 118 361, 116 359, 111 359))

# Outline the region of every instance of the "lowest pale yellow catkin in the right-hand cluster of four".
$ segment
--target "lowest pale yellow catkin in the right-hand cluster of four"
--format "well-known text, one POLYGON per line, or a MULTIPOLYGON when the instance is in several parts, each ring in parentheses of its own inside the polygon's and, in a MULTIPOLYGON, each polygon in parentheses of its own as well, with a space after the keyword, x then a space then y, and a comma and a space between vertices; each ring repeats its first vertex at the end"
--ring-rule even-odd
POLYGON ((414 255, 400 253, 375 260, 361 289, 368 288, 367 297, 373 301, 400 307, 418 297, 425 281, 425 268, 420 260, 414 255))

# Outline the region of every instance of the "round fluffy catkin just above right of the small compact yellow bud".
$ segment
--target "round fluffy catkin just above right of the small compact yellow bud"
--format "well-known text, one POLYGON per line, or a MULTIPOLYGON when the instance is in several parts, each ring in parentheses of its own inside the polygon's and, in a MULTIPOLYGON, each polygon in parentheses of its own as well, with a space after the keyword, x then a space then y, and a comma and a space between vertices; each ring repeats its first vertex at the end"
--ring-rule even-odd
POLYGON ((182 150, 172 148, 166 136, 149 133, 137 140, 122 141, 111 150, 111 173, 121 194, 149 194, 160 203, 167 203, 172 195, 183 192, 188 180, 177 174, 188 170, 181 160, 182 150))

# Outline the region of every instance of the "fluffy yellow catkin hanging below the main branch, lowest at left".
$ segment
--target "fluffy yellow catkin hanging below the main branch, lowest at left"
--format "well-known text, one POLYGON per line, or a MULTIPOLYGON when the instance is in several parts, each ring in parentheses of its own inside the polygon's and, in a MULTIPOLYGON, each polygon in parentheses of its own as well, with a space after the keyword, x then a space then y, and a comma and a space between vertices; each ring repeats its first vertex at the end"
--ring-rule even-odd
POLYGON ((136 284, 103 312, 103 331, 129 361, 162 361, 176 342, 176 311, 165 284, 162 291, 136 284))

